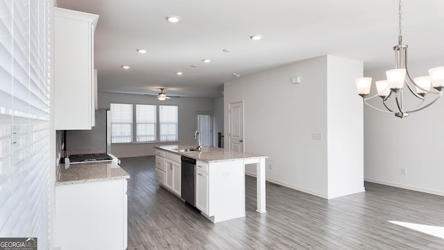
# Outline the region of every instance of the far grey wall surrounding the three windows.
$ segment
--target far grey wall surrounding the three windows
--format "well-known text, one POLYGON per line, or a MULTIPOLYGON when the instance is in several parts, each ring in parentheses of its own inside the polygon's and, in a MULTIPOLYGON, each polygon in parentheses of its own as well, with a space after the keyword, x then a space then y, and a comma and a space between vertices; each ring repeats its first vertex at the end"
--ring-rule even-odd
MULTIPOLYGON (((171 98, 159 101, 157 97, 143 94, 116 94, 99 92, 99 108, 110 108, 110 103, 137 103, 178 105, 178 140, 167 143, 129 143, 112 144, 111 152, 117 157, 154 156, 154 146, 162 144, 196 144, 194 131, 197 129, 197 113, 207 111, 213 113, 214 100, 206 98, 171 98)), ((220 126, 220 125, 218 125, 220 126)))

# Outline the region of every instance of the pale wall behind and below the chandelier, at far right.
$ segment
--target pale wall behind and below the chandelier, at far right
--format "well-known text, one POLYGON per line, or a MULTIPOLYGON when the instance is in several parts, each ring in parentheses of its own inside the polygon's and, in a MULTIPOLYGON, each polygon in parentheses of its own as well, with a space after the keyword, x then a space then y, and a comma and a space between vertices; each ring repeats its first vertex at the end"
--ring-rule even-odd
MULTIPOLYGON (((443 65, 443 59, 409 62, 409 72, 412 77, 424 76, 429 68, 443 65)), ((386 70, 365 75, 372 76, 373 82, 379 81, 386 78, 386 70)), ((366 181, 444 195, 443 128, 444 99, 404 119, 365 107, 366 181), (401 174, 402 168, 407 169, 405 176, 401 174)))

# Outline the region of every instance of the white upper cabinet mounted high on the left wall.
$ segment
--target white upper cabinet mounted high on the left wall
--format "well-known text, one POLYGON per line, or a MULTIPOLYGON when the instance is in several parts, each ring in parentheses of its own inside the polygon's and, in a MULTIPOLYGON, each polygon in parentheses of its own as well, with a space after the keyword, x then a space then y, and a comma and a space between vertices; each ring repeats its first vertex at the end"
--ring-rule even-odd
POLYGON ((94 126, 94 31, 99 15, 54 8, 54 112, 57 130, 94 126))

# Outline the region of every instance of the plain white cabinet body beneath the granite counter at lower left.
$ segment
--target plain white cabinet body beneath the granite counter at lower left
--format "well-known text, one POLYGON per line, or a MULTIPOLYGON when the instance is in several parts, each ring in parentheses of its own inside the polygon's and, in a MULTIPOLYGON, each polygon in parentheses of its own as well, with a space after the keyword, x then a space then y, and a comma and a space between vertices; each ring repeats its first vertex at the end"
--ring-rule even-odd
POLYGON ((56 185, 54 245, 63 250, 127 247, 126 179, 56 185))

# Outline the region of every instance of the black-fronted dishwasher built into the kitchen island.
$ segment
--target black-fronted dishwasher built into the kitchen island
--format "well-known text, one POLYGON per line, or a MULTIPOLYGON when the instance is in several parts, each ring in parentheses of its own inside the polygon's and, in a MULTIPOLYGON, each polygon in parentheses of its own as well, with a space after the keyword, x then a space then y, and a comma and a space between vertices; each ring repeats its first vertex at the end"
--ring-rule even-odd
POLYGON ((180 158, 182 181, 180 181, 180 192, 182 199, 192 206, 196 206, 196 160, 187 156, 180 158))

